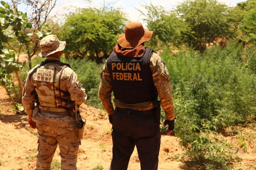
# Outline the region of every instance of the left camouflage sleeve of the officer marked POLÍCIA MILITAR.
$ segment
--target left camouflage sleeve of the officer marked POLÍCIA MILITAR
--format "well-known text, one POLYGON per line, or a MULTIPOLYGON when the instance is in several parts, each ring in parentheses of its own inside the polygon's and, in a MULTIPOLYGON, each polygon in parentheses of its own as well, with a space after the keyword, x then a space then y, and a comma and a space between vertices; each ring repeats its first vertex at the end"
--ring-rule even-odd
POLYGON ((36 100, 36 91, 33 82, 29 79, 29 75, 32 72, 28 72, 27 79, 24 81, 23 94, 22 94, 22 105, 28 114, 28 116, 33 115, 34 103, 36 100), (33 93, 32 93, 33 92, 33 93))

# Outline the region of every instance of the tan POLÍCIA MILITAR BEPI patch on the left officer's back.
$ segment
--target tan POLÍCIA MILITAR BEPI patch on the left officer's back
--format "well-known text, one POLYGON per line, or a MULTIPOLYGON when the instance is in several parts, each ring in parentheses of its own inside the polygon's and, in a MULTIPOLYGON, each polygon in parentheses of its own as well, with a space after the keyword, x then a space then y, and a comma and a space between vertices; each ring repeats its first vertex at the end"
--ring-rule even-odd
POLYGON ((45 81, 45 82, 53 82, 54 70, 38 68, 36 70, 36 81, 45 81))

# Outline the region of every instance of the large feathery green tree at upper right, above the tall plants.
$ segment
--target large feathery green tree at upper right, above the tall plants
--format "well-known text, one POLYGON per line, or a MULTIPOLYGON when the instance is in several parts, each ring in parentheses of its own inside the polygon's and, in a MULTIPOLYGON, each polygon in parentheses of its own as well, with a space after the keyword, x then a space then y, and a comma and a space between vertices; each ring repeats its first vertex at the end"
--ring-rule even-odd
POLYGON ((202 53, 206 43, 214 43, 216 38, 232 37, 234 32, 229 30, 234 27, 236 16, 230 10, 216 0, 187 0, 178 5, 177 15, 187 27, 181 32, 183 42, 202 53))

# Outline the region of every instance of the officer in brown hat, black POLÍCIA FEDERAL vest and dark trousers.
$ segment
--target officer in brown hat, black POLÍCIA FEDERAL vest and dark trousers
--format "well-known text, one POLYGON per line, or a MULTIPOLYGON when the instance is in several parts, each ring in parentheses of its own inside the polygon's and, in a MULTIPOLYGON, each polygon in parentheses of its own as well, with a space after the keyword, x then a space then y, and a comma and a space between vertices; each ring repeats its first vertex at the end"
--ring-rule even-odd
POLYGON ((139 22, 125 26, 101 72, 99 97, 112 124, 112 170, 126 170, 136 145, 143 170, 156 170, 160 149, 160 104, 169 135, 174 129, 174 107, 169 73, 164 61, 145 48, 153 32, 139 22), (114 93, 115 110, 111 102, 114 93), (160 102, 157 98, 160 98, 160 102))

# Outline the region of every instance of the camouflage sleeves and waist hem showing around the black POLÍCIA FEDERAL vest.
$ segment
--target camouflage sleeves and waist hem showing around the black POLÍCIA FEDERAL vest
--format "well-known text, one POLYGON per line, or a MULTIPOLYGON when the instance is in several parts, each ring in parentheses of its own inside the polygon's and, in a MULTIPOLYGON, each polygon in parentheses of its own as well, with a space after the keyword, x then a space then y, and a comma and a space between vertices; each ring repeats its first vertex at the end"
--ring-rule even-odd
MULTIPOLYGON (((107 61, 103 66, 102 72, 100 73, 101 81, 99 87, 99 97, 108 114, 112 115, 114 112, 114 107, 111 101, 112 85, 106 63, 107 61)), ((168 120, 173 120, 174 106, 172 101, 169 73, 164 61, 154 52, 152 52, 150 55, 150 68, 153 75, 153 81, 159 95, 160 104, 165 112, 166 118, 168 120)), ((154 107, 151 101, 137 104, 126 104, 116 99, 113 101, 114 105, 117 107, 130 108, 133 110, 150 110, 154 107)))

